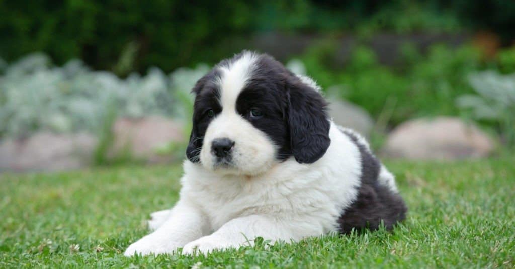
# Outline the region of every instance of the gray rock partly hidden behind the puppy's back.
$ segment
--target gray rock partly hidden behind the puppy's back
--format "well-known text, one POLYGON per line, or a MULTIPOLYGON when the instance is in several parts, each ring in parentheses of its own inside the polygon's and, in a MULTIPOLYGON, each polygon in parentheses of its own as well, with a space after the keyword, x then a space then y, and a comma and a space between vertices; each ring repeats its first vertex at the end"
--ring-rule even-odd
POLYGON ((366 138, 370 137, 374 121, 365 109, 346 100, 329 97, 328 101, 329 115, 336 124, 351 128, 366 138))

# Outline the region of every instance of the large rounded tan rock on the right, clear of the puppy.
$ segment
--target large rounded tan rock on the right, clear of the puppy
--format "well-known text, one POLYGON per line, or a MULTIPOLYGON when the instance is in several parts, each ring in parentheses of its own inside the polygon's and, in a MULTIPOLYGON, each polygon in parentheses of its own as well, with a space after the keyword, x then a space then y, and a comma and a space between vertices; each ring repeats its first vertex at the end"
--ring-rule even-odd
POLYGON ((453 160, 487 157, 494 144, 476 126, 457 117, 411 120, 389 135, 382 153, 390 158, 453 160))

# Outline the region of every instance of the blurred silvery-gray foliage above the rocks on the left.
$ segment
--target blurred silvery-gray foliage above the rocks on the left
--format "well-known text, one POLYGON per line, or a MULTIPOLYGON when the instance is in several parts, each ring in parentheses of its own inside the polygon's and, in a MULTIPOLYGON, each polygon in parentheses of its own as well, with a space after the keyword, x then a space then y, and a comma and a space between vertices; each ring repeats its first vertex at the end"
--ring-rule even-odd
POLYGON ((116 116, 164 115, 190 122, 190 90, 208 71, 198 65, 166 75, 151 68, 146 76, 120 79, 92 72, 79 60, 54 67, 45 55, 28 55, 0 75, 0 138, 39 130, 86 131, 100 132, 109 144, 106 130, 116 116))

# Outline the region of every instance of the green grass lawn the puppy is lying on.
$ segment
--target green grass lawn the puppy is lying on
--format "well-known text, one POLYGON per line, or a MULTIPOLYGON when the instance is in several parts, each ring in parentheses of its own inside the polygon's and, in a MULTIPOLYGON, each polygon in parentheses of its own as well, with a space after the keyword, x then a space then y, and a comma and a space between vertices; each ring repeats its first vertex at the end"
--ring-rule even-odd
POLYGON ((180 166, 0 175, 0 268, 513 268, 514 163, 388 163, 409 207, 407 220, 392 232, 258 245, 207 257, 130 259, 122 253, 147 232, 148 213, 177 200, 180 166))

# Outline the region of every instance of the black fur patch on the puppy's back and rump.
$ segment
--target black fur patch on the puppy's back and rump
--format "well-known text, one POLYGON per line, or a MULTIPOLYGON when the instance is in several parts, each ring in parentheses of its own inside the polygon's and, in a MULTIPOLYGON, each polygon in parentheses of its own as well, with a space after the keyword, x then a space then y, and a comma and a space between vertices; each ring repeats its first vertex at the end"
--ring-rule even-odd
POLYGON ((402 197, 378 181, 381 164, 356 136, 343 131, 359 150, 361 156, 361 185, 356 200, 339 217, 339 231, 350 233, 354 228, 375 230, 384 223, 386 229, 406 218, 406 205, 402 197))

